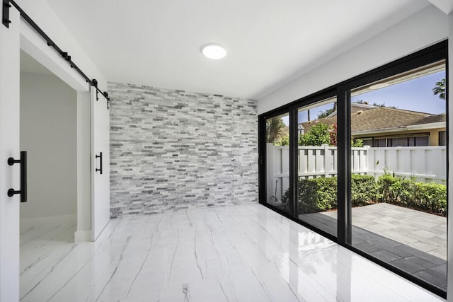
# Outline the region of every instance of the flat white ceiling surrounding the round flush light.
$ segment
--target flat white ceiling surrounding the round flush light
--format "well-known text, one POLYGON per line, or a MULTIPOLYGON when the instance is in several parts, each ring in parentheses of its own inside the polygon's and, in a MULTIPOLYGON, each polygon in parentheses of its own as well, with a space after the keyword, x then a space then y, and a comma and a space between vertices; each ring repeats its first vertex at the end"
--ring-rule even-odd
POLYGON ((430 5, 427 0, 47 1, 108 81, 254 99, 430 5), (224 45, 224 59, 202 56, 200 47, 210 42, 224 45))

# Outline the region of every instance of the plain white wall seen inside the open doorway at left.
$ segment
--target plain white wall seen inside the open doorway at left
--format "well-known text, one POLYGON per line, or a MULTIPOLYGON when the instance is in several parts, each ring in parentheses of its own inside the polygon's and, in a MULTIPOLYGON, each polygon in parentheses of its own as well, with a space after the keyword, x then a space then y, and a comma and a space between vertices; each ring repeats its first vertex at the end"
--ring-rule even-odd
POLYGON ((76 91, 56 76, 21 73, 21 151, 28 202, 21 219, 76 215, 76 91))

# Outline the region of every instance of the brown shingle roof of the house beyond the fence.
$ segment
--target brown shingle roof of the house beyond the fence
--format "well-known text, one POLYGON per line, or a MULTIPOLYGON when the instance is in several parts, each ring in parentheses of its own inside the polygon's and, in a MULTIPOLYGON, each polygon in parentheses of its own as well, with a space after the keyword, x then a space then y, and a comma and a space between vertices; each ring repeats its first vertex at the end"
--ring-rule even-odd
MULTIPOLYGON (((336 122, 336 117, 304 122, 302 126, 304 126, 305 131, 308 131, 317 122, 331 125, 336 122)), ((394 129, 433 122, 445 122, 445 114, 430 115, 423 112, 379 107, 352 113, 351 132, 394 129)))

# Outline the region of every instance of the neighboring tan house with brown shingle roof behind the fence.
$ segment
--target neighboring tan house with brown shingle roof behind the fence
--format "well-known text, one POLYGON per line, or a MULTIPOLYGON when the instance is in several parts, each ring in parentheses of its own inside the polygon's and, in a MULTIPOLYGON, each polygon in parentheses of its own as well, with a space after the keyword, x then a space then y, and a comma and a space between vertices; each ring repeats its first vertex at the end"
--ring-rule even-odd
MULTIPOLYGON (((302 127, 306 132, 317 122, 334 124, 336 112, 325 119, 303 122, 302 127)), ((445 113, 432 115, 352 103, 351 136, 373 147, 445 146, 445 113)))

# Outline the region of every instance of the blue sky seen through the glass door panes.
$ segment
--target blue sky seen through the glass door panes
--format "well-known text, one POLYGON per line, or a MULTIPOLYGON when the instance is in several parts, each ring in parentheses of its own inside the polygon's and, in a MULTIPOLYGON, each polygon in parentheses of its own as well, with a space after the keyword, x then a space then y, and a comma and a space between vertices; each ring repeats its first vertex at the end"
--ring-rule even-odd
MULTIPOLYGON (((413 110, 440 114, 445 112, 445 100, 441 100, 438 95, 432 94, 435 83, 445 78, 445 71, 423 76, 418 79, 398 83, 393 86, 370 91, 351 98, 352 102, 364 100, 370 105, 373 103, 385 103, 386 106, 395 106, 399 109, 413 110)), ((330 109, 333 103, 322 105, 310 110, 310 119, 316 120, 321 111, 330 109)), ((308 114, 305 111, 299 112, 299 122, 306 122, 308 114)), ((289 124, 288 117, 284 117, 283 122, 289 124)))

